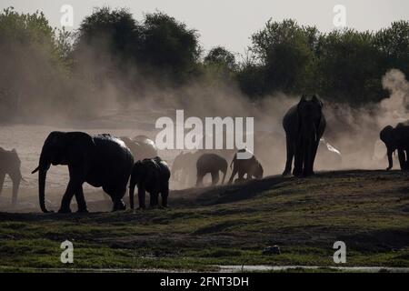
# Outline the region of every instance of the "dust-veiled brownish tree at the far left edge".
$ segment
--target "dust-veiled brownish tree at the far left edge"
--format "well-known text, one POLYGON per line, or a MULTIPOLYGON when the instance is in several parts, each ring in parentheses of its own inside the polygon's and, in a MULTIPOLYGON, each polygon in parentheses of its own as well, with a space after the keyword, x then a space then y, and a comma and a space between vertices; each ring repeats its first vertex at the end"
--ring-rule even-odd
POLYGON ((68 70, 56 30, 45 15, 20 14, 13 7, 0 14, 0 115, 34 115, 66 102, 55 83, 68 70))

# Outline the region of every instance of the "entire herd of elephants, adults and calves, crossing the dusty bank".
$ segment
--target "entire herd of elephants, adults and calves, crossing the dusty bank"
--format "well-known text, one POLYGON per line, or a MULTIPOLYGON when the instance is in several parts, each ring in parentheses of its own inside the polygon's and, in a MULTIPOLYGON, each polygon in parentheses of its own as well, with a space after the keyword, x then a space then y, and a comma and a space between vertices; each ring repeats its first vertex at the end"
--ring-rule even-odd
MULTIPOLYGON (((320 139, 326 126, 323 103, 313 95, 302 96, 297 105, 284 115, 283 127, 286 137, 286 163, 283 176, 292 172, 294 176, 314 175, 314 159, 320 139)), ((397 150, 402 170, 409 170, 409 121, 396 127, 388 125, 380 133, 387 148, 389 166, 393 166, 392 154, 397 150)), ((216 185, 223 174, 224 184, 228 163, 231 158, 231 176, 228 184, 242 182, 264 175, 264 169, 253 153, 247 149, 238 151, 205 151, 180 153, 175 157, 172 171, 166 162, 158 156, 155 143, 145 135, 134 138, 120 138, 102 134, 88 135, 83 132, 52 132, 45 139, 38 166, 32 174, 38 172, 38 196, 41 210, 49 212, 45 206, 45 179, 51 165, 68 166, 69 182, 61 201, 59 213, 70 213, 71 200, 75 196, 78 212, 87 212, 83 184, 102 187, 111 197, 113 210, 124 210, 123 197, 129 181, 129 200, 134 208, 135 186, 138 188, 139 208, 145 208, 145 192, 150 194, 150 207, 167 206, 169 180, 172 176, 179 182, 192 182, 203 186, 204 177, 212 176, 212 185, 216 185), (238 154, 247 154, 249 158, 238 158, 238 154), (193 175, 195 173, 195 176, 193 175), (237 179, 234 177, 238 175, 237 179), (244 179, 245 176, 245 179, 244 179), (185 181, 184 181, 185 180, 185 181), (186 181, 186 180, 190 180, 186 181)), ((17 192, 23 176, 21 161, 15 149, 6 151, 0 147, 0 194, 5 175, 13 181, 12 203, 16 204, 17 192)))

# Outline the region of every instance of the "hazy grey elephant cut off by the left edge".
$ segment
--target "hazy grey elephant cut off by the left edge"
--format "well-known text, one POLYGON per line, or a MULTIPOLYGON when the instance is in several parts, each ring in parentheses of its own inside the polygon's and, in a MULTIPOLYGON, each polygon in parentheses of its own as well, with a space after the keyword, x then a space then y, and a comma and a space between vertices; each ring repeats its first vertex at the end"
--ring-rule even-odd
POLYGON ((15 148, 11 151, 7 151, 3 147, 0 147, 0 194, 2 193, 3 184, 5 183, 5 175, 8 175, 13 182, 13 206, 17 204, 18 187, 20 186, 21 180, 23 180, 20 166, 21 161, 15 148))

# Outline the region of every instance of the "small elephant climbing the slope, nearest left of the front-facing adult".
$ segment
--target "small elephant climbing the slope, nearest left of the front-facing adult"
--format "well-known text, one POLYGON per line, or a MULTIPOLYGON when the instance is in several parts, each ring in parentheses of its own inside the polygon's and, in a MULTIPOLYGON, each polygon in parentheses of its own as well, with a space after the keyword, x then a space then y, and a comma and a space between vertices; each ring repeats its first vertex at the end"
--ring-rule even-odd
POLYGON ((252 177, 255 177, 256 179, 261 179, 263 178, 264 174, 264 169, 263 166, 260 164, 260 162, 257 160, 257 158, 254 156, 253 153, 251 153, 247 149, 241 149, 237 152, 232 160, 232 163, 230 163, 230 167, 233 166, 233 172, 232 175, 230 176, 228 184, 233 183, 234 176, 238 173, 238 181, 244 181, 244 174, 247 175, 247 180, 251 179, 252 177), (249 156, 248 158, 243 158, 243 159, 238 159, 237 158, 237 153, 245 153, 247 152, 249 156))

